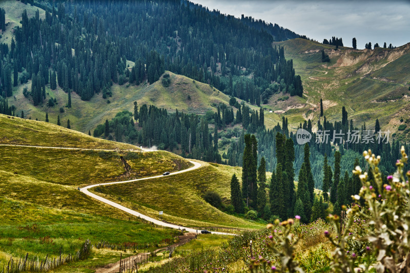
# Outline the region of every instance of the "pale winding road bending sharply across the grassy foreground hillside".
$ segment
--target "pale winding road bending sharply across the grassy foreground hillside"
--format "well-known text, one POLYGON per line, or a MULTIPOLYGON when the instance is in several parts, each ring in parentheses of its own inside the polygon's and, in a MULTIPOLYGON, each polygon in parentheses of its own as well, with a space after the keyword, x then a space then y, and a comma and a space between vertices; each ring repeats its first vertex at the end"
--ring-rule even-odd
MULTIPOLYGON (((181 174, 181 173, 185 173, 185 172, 190 172, 190 171, 193 171, 193 170, 195 170, 195 169, 198 169, 198 168, 201 166, 201 164, 198 163, 198 162, 191 161, 191 160, 190 160, 190 162, 191 162, 192 164, 194 164, 193 167, 190 167, 189 169, 186 169, 186 170, 182 170, 182 171, 178 171, 178 172, 175 172, 175 173, 171 173, 170 175, 176 175, 176 174, 181 174)), ((89 185, 89 186, 80 188, 80 192, 85 193, 86 195, 88 195, 88 196, 90 196, 90 197, 92 197, 92 198, 94 198, 94 199, 97 199, 98 201, 101 201, 101 202, 104 202, 104 203, 106 203, 106 204, 109 204, 110 206, 113 206, 113 207, 115 207, 115 208, 121 209, 121 211, 124 211, 124 212, 126 212, 126 213, 129 213, 129 214, 134 215, 134 216, 136 216, 136 217, 145 219, 145 220, 147 220, 147 221, 149 221, 149 222, 152 222, 152 223, 154 223, 154 224, 157 224, 157 225, 160 225, 160 226, 171 227, 171 228, 175 228, 175 229, 185 229, 185 230, 187 230, 188 232, 196 233, 196 232, 197 232, 197 229, 190 228, 190 227, 185 227, 185 226, 180 226, 180 225, 174 225, 174 224, 162 222, 162 221, 160 221, 160 220, 156 220, 156 219, 154 219, 154 218, 151 218, 151 217, 149 217, 149 216, 140 214, 140 213, 138 213, 138 212, 136 212, 136 211, 133 211, 132 209, 130 209, 130 208, 128 208, 128 207, 122 206, 122 205, 120 205, 120 204, 118 204, 118 203, 115 203, 115 202, 113 202, 113 201, 110 201, 110 200, 108 200, 108 199, 105 199, 105 198, 103 198, 103 197, 101 197, 101 196, 98 196, 98 195, 96 195, 96 194, 90 193, 90 192, 88 191, 89 188, 96 187, 96 186, 104 186, 104 185, 112 185, 112 184, 120 184, 120 183, 129 183, 129 182, 135 182, 135 181, 140 181, 140 180, 148 180, 148 179, 154 179, 154 178, 160 178, 160 177, 163 177, 163 176, 162 176, 162 175, 157 175, 157 176, 152 176, 152 177, 146 177, 146 178, 140 178, 140 179, 127 180, 127 181, 118 181, 118 182, 109 182, 109 183, 101 183, 101 184, 89 185)), ((223 233, 223 232, 211 232, 211 233, 212 233, 212 234, 218 234, 218 235, 232 235, 232 236, 235 235, 235 234, 223 233)))

